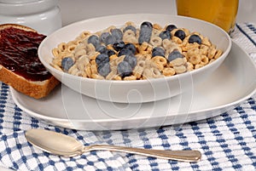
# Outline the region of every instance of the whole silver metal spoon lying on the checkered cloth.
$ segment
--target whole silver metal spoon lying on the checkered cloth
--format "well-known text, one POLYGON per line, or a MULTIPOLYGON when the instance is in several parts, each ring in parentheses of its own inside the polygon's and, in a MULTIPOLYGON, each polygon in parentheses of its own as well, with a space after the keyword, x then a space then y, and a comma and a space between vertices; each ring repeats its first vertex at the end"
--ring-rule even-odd
POLYGON ((116 145, 84 146, 73 137, 45 129, 30 129, 26 131, 25 136, 28 142, 39 149, 63 157, 75 157, 87 151, 103 150, 128 152, 147 157, 160 157, 183 162, 198 162, 201 159, 200 151, 164 151, 116 145))

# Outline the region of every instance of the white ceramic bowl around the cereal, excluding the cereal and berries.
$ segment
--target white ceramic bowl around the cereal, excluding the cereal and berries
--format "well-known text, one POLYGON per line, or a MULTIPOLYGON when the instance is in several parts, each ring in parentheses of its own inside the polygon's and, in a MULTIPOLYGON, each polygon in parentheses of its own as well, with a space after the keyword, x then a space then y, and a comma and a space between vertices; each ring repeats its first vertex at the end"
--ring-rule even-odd
POLYGON ((227 54, 230 53, 230 48, 230 36, 218 26, 202 20, 169 14, 120 14, 79 21, 53 32, 40 44, 38 56, 53 76, 67 87, 81 94, 96 98, 97 100, 119 103, 144 103, 164 100, 193 89, 196 83, 203 81, 220 66, 227 54), (126 21, 133 21, 139 26, 145 20, 158 23, 160 26, 175 24, 177 27, 184 27, 189 29, 189 31, 198 31, 208 37, 224 53, 218 60, 194 71, 172 77, 135 81, 110 81, 77 77, 58 71, 50 66, 53 59, 52 49, 59 43, 67 43, 73 40, 82 31, 102 31, 108 26, 123 26, 126 21))

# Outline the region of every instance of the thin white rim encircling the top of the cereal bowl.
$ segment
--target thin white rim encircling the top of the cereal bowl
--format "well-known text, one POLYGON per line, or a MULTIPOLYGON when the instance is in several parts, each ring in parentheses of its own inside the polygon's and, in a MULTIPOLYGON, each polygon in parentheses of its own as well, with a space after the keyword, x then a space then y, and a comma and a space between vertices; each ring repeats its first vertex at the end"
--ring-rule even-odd
POLYGON ((221 27, 213 25, 210 22, 207 22, 205 20, 199 20, 199 19, 187 17, 187 16, 182 16, 182 15, 147 14, 147 13, 145 13, 145 14, 142 13, 142 14, 143 15, 172 16, 172 17, 177 17, 177 18, 184 18, 184 19, 187 19, 187 20, 195 20, 197 22, 203 22, 203 23, 205 23, 207 25, 211 25, 213 27, 216 27, 218 30, 221 30, 224 33, 224 35, 228 38, 228 47, 226 48, 224 53, 221 54, 221 56, 217 60, 214 60, 212 63, 208 63, 207 66, 203 66, 201 68, 197 68, 197 69, 195 69, 193 71, 186 71, 184 73, 176 74, 176 75, 170 76, 170 77, 150 78, 150 79, 144 79, 144 80, 107 80, 107 79, 95 79, 95 78, 89 78, 89 77, 74 76, 74 75, 69 74, 67 72, 59 71, 59 70, 55 69, 53 66, 49 65, 48 62, 46 62, 45 60, 42 59, 42 56, 40 55, 40 52, 42 51, 42 47, 43 47, 44 43, 47 42, 49 38, 54 37, 55 32, 57 32, 57 31, 62 31, 62 30, 68 29, 69 27, 80 25, 81 23, 84 23, 84 22, 90 22, 90 20, 91 21, 93 21, 93 20, 104 20, 105 18, 109 18, 109 17, 122 17, 122 16, 126 16, 126 15, 138 15, 138 14, 114 14, 114 15, 106 15, 106 16, 90 18, 90 19, 87 19, 87 20, 79 20, 79 21, 76 21, 76 22, 74 22, 72 24, 69 24, 67 26, 63 26, 63 27, 61 27, 61 29, 59 29, 57 31, 52 32, 49 36, 44 38, 44 40, 42 41, 42 43, 40 43, 40 45, 38 47, 38 57, 39 57, 39 60, 41 60, 41 62, 43 63, 43 65, 46 67, 47 70, 49 70, 48 68, 50 68, 51 70, 55 71, 58 75, 61 75, 61 77, 75 78, 76 80, 79 80, 79 81, 83 81, 83 80, 85 81, 86 80, 88 82, 116 83, 116 84, 129 83, 129 84, 131 84, 131 83, 148 83, 148 81, 150 81, 150 83, 154 83, 154 82, 159 82, 160 80, 163 80, 163 79, 165 79, 166 81, 172 81, 172 80, 175 80, 175 79, 180 78, 180 77, 187 77, 187 75, 195 75, 198 72, 207 70, 207 68, 210 68, 218 60, 223 60, 222 59, 223 56, 227 56, 230 53, 230 49, 231 49, 231 45, 232 45, 232 40, 230 38, 230 35, 226 31, 224 31, 221 27))

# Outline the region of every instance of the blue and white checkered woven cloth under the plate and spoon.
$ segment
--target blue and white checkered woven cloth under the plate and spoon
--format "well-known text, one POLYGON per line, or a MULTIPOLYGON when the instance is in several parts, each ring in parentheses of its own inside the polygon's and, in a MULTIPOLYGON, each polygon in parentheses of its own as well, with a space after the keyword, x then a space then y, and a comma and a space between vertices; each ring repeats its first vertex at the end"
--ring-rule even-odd
MULTIPOLYGON (((236 43, 256 59, 256 27, 237 24, 236 43), (254 52, 254 53, 253 53, 254 52)), ((256 61, 256 60, 255 60, 256 61)), ((21 111, 9 86, 0 83, 0 165, 15 170, 256 170, 256 95, 218 117, 182 127, 140 128, 123 131, 78 131, 58 128, 21 111), (148 149, 197 149, 201 162, 176 162, 127 153, 92 151, 65 158, 28 144, 24 133, 47 128, 73 136, 84 145, 110 144, 148 149)))

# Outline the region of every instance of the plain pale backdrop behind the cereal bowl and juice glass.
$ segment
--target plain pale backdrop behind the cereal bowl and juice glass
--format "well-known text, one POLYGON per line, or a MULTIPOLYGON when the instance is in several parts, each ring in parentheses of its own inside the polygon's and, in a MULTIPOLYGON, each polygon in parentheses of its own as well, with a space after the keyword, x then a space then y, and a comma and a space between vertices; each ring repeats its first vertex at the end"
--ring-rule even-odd
MULTIPOLYGON (((63 26, 110 14, 177 14, 175 0, 60 0, 63 26)), ((237 22, 256 23, 256 1, 240 0, 237 22)))

